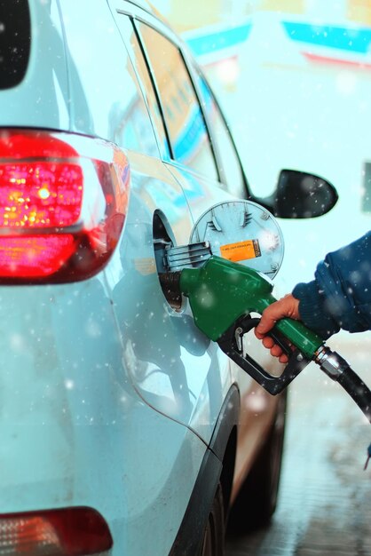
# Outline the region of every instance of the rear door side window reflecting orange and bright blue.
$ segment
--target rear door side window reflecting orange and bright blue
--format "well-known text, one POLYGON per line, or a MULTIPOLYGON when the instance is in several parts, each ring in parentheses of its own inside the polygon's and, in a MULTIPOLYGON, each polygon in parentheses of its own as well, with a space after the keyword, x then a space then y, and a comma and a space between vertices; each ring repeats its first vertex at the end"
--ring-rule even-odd
POLYGON ((139 23, 138 28, 161 102, 173 159, 210 179, 218 179, 209 133, 178 47, 145 23, 139 23))

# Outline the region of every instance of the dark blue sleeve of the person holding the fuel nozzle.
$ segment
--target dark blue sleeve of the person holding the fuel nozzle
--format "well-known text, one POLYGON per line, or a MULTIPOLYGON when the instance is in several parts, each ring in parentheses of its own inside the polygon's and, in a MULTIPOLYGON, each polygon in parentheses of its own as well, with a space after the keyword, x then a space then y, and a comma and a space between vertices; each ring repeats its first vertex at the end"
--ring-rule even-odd
POLYGON ((315 280, 293 290, 300 316, 312 330, 328 338, 341 328, 371 329, 371 232, 328 253, 315 280))

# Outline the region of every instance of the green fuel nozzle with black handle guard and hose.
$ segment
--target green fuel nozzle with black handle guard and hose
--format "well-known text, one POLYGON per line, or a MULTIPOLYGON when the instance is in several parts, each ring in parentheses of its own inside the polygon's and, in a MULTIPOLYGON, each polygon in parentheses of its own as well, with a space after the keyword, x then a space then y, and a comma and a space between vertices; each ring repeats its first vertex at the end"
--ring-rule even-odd
POLYGON ((257 326, 258 318, 276 299, 272 282, 256 270, 225 258, 210 257, 200 268, 161 275, 162 289, 189 298, 196 326, 267 392, 280 393, 310 362, 320 365, 328 377, 339 382, 371 422, 371 392, 338 353, 302 322, 282 319, 270 333, 288 354, 280 377, 272 376, 249 353, 243 336, 257 326), (295 348, 293 348, 295 346, 295 348))

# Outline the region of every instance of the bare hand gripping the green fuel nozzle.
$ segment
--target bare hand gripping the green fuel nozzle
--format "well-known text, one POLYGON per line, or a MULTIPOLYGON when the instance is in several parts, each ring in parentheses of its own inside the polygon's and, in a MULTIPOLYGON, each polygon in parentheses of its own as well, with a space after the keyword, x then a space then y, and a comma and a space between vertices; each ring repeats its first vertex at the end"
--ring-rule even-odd
POLYGON ((271 350, 271 354, 274 357, 278 357, 281 363, 288 362, 288 355, 283 353, 280 346, 274 343, 274 340, 267 336, 269 330, 272 330, 273 326, 277 321, 283 319, 284 317, 289 317, 290 319, 300 320, 299 314, 299 300, 294 298, 291 293, 288 293, 284 298, 279 299, 268 306, 263 314, 262 318, 255 329, 255 335, 259 340, 262 340, 263 346, 271 350))

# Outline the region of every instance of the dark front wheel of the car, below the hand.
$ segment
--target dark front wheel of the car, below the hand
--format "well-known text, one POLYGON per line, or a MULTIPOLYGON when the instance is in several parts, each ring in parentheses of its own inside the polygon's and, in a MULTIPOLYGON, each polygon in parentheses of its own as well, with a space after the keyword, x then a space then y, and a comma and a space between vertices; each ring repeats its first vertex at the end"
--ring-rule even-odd
POLYGON ((280 395, 274 423, 233 504, 229 529, 246 533, 266 525, 277 504, 285 433, 287 393, 280 395))

